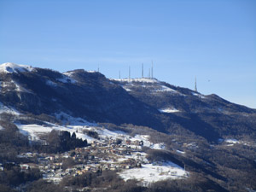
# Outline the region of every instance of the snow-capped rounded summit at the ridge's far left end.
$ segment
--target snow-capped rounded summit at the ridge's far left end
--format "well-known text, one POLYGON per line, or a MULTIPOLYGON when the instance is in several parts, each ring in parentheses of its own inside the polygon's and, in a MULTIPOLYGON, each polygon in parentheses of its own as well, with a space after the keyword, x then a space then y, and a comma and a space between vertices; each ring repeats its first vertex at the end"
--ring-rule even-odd
POLYGON ((0 65, 0 73, 20 73, 31 72, 33 67, 26 65, 17 65, 12 62, 6 62, 0 65))

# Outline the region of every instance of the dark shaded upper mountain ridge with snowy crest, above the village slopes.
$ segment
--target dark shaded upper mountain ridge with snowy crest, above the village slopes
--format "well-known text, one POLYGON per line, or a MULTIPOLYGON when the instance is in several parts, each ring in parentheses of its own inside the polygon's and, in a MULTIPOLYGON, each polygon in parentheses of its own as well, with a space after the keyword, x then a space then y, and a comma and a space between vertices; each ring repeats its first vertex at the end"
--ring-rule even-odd
POLYGON ((215 142, 230 133, 256 137, 255 109, 158 79, 107 79, 82 69, 59 73, 13 63, 0 69, 0 102, 15 113, 190 131, 215 142))

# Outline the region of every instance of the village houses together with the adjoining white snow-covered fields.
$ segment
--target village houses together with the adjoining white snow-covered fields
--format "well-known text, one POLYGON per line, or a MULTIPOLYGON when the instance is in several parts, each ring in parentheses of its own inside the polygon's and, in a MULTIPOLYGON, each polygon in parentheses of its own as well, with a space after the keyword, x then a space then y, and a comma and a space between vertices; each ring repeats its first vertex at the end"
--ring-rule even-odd
MULTIPOLYGON (((84 173, 117 172, 125 181, 137 179, 143 185, 165 179, 189 177, 182 167, 171 161, 148 160, 147 148, 166 150, 164 143, 152 143, 149 135, 130 135, 124 131, 110 131, 99 125, 19 125, 20 130, 29 131, 31 144, 48 143, 40 137, 46 131, 69 131, 79 139, 87 141, 85 147, 74 148, 63 153, 26 152, 20 158, 21 172, 38 169, 43 179, 58 184, 64 177, 76 177, 84 173), (44 128, 44 129, 43 129, 44 128), (41 132, 40 132, 41 131, 41 132), (42 132, 44 131, 44 132, 42 132), (23 159, 23 160, 22 160, 23 159), (138 174, 141 172, 141 174, 138 174), (144 177, 144 176, 148 177, 144 177)), ((1 169, 0 165, 0 169, 1 169)))

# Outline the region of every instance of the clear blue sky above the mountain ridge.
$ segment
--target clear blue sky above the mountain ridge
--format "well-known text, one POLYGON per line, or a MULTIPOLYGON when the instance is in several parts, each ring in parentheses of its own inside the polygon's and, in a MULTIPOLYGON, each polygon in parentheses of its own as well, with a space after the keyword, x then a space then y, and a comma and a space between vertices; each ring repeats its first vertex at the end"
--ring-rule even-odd
POLYGON ((0 0, 0 62, 148 74, 256 108, 256 1, 0 0))

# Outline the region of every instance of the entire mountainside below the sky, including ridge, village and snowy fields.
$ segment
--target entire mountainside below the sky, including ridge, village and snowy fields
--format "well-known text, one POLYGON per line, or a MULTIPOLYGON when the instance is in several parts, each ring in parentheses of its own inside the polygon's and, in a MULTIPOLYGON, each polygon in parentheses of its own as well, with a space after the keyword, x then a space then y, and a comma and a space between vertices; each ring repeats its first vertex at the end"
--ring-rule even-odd
POLYGON ((256 190, 256 109, 14 63, 0 87, 0 191, 256 190))

